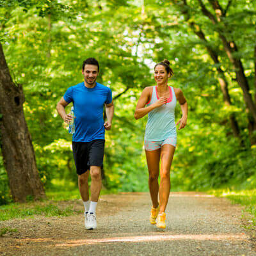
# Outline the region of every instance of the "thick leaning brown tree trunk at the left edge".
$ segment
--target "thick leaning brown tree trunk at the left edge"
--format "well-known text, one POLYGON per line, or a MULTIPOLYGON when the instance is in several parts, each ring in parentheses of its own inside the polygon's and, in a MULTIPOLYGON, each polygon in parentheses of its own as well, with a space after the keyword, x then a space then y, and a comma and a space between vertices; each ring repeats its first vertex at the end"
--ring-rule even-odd
POLYGON ((24 100, 22 86, 13 83, 0 44, 1 149, 13 200, 19 202, 24 202, 27 196, 45 196, 24 118, 24 100))

